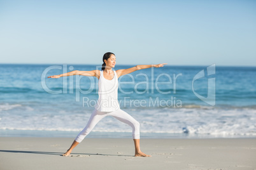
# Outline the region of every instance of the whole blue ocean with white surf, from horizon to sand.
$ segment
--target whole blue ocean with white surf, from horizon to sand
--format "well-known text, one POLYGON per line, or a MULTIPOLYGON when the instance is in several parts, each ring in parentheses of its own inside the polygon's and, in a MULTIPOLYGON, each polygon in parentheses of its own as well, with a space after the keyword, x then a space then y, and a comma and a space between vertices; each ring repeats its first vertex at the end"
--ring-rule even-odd
MULTIPOLYGON (((97 78, 47 77, 96 69, 101 65, 0 64, 0 136, 75 138, 94 110, 97 78)), ((118 82, 120 108, 139 121, 141 138, 256 136, 256 67, 165 65, 118 82)), ((88 138, 132 138, 131 131, 105 117, 88 138)))

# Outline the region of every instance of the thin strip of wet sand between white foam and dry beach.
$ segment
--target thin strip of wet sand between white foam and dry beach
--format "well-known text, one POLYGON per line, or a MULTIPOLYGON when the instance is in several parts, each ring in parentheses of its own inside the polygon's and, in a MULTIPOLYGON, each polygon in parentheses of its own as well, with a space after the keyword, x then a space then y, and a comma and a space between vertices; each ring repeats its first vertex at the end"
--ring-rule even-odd
MULTIPOLYGON (((1 137, 33 137, 33 138, 76 138, 80 131, 44 131, 44 130, 10 130, 0 129, 1 137)), ((140 133, 141 139, 235 139, 256 138, 255 135, 241 134, 192 134, 192 133, 140 133)), ((132 138, 131 132, 99 132, 92 131, 87 138, 132 138)))

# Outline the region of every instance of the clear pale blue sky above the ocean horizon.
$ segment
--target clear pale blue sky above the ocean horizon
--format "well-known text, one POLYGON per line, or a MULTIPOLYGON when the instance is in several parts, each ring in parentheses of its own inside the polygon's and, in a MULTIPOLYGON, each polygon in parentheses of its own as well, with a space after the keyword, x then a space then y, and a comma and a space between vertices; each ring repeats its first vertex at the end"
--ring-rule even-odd
POLYGON ((0 0, 0 63, 256 66, 256 1, 0 0))

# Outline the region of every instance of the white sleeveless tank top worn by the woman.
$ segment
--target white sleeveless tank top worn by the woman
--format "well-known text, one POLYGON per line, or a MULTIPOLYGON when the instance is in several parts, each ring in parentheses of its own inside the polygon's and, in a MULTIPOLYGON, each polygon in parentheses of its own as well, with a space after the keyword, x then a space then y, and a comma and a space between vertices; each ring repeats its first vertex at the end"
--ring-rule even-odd
POLYGON ((99 76, 99 98, 96 103, 96 109, 101 112, 112 112, 118 110, 120 105, 118 103, 118 77, 117 72, 113 70, 114 77, 111 80, 105 79, 103 70, 99 76))

